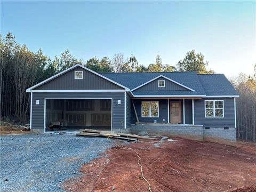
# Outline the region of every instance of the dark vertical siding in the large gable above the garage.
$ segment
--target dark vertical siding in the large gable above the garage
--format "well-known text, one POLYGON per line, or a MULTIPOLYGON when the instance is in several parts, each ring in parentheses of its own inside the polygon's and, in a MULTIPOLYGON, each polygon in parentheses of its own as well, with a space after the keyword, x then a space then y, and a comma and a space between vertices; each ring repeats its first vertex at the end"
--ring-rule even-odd
POLYGON ((65 74, 52 79, 34 90, 123 90, 105 78, 102 78, 82 67, 76 67, 65 74), (83 71, 83 79, 75 79, 75 71, 83 71))

